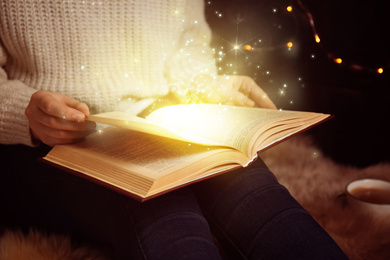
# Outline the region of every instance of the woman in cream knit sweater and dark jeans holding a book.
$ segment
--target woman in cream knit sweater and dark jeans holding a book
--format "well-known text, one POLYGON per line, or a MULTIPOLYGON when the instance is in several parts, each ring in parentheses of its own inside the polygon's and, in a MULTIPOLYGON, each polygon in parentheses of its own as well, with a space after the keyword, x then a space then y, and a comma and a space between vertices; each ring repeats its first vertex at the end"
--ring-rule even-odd
POLYGON ((0 16, 0 188, 25 225, 117 259, 344 257, 261 160, 145 203, 37 161, 91 133, 90 113, 168 99, 275 108, 252 79, 217 76, 203 1, 3 0, 0 16))

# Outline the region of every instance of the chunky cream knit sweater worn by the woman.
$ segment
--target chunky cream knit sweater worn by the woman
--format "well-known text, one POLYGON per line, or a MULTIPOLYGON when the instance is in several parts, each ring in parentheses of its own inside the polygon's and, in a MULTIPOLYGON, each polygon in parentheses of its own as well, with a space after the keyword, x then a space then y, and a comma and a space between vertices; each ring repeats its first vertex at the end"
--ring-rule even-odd
POLYGON ((2 144, 33 145, 24 111, 37 90, 97 113, 216 73, 203 0, 1 0, 0 17, 2 144))

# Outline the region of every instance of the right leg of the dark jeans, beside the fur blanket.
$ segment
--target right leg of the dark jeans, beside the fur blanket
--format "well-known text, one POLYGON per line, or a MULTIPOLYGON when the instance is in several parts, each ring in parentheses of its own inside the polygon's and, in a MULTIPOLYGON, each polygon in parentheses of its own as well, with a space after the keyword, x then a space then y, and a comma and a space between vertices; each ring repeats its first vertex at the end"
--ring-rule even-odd
POLYGON ((200 182, 193 189, 213 232, 237 257, 345 259, 260 159, 248 168, 200 182))

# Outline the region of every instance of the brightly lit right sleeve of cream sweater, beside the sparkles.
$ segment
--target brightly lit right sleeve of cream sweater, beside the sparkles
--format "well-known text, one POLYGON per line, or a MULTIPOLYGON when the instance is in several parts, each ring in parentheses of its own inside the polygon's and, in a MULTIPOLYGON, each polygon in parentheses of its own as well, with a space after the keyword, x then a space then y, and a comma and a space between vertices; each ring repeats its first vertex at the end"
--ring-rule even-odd
POLYGON ((165 76, 171 92, 184 97, 191 82, 199 75, 216 76, 217 69, 210 47, 211 30, 206 22, 203 0, 188 0, 185 21, 176 52, 167 63, 165 76))

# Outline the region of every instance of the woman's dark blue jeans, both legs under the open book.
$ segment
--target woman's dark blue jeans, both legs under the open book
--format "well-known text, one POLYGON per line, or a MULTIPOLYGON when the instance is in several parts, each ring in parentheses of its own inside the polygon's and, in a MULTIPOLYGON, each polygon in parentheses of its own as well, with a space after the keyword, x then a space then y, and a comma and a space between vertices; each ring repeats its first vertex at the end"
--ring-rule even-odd
POLYGON ((38 161, 46 152, 0 145, 0 198, 25 227, 116 259, 346 259, 260 159, 140 203, 38 161))

